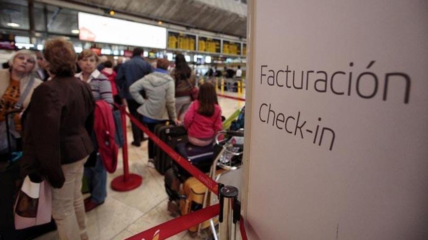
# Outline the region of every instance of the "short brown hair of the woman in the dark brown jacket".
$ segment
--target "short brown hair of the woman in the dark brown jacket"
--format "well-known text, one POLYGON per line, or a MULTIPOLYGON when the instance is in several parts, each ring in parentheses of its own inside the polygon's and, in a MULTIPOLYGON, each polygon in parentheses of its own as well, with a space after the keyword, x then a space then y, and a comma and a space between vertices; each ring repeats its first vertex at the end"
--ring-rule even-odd
POLYGON ((76 52, 71 42, 62 38, 47 40, 43 49, 43 56, 49 63, 49 71, 55 76, 74 76, 76 52))

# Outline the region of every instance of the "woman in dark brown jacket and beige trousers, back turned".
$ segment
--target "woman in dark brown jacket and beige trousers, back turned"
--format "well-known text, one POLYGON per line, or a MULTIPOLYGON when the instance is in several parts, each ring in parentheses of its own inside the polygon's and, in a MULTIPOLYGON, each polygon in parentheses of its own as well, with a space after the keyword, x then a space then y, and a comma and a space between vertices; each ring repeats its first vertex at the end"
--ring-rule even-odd
POLYGON ((74 78, 76 53, 63 39, 45 44, 44 56, 54 75, 38 86, 23 115, 24 173, 52 186, 52 216, 62 240, 86 240, 81 193, 83 164, 93 151, 93 97, 88 83, 74 78))

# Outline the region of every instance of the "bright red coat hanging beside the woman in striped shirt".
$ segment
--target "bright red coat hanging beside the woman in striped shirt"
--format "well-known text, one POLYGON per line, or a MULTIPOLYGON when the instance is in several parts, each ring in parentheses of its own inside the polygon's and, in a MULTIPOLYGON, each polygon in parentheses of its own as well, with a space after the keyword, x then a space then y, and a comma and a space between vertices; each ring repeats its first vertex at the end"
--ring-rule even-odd
POLYGON ((94 131, 98 152, 107 172, 113 173, 117 167, 118 146, 114 140, 115 125, 110 105, 104 100, 95 102, 94 131))

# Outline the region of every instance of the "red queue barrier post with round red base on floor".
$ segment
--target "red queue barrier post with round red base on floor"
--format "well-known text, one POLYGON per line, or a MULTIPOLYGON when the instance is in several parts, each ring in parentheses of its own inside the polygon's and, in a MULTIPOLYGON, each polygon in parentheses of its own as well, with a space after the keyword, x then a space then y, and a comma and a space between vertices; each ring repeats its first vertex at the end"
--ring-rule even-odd
POLYGON ((138 188, 142 182, 143 177, 137 174, 129 173, 128 165, 128 141, 126 139, 126 116, 125 116, 125 106, 120 106, 121 118, 122 118, 122 128, 124 133, 124 145, 122 147, 122 156, 124 162, 124 175, 117 176, 111 181, 111 188, 119 192, 126 192, 138 188))

